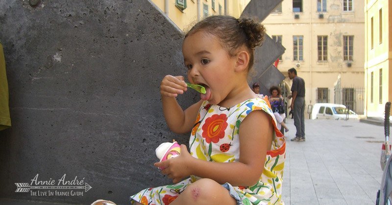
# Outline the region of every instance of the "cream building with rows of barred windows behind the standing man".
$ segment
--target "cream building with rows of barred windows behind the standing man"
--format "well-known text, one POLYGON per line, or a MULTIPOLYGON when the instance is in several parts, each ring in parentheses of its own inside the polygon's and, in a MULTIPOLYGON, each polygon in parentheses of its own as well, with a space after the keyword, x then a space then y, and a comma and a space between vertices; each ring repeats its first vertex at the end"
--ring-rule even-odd
MULTIPOLYGON (((305 80, 306 105, 339 103, 364 113, 363 9, 364 0, 284 0, 263 21, 286 48, 278 69, 287 76, 295 68, 305 80)), ((286 77, 288 90, 291 84, 286 77)))

